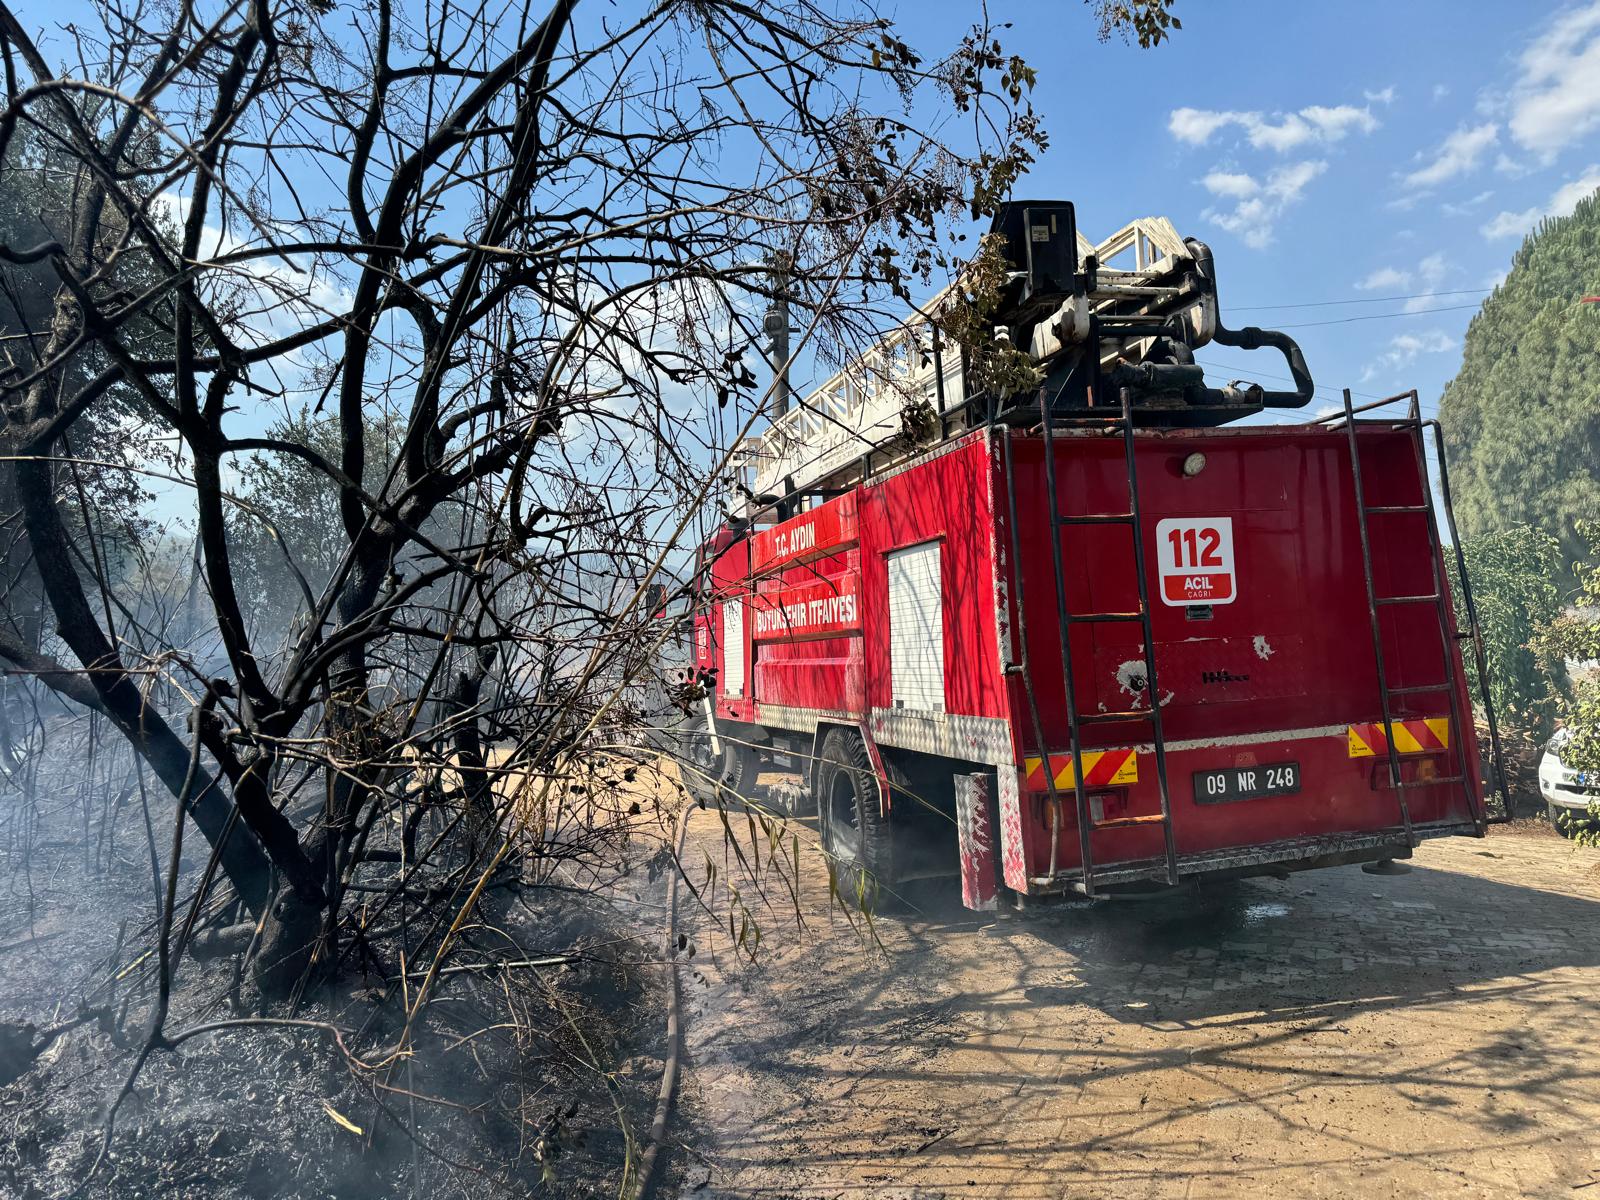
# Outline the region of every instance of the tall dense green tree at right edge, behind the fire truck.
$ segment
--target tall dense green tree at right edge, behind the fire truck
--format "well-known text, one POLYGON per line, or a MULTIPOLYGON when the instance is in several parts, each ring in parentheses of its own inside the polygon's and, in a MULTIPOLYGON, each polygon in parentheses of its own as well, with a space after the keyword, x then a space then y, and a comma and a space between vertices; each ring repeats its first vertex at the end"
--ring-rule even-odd
POLYGON ((1600 200, 1547 219, 1467 328, 1461 371, 1438 405, 1467 538, 1530 525, 1584 552, 1600 514, 1600 200))

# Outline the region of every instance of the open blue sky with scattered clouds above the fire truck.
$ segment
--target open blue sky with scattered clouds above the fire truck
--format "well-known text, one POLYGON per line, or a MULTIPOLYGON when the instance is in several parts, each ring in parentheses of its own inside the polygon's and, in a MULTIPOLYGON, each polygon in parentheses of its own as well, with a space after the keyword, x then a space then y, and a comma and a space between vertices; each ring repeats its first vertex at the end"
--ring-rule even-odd
MULTIPOLYGON (((933 51, 973 5, 890 11, 933 51)), ((1170 216, 1216 251, 1229 325, 1301 326, 1320 395, 1416 387, 1432 410, 1523 234, 1600 186, 1600 0, 1174 11, 1184 29, 1141 51, 1096 43, 1083 3, 990 5, 1038 70, 1051 139, 1019 192, 1075 202, 1091 240, 1170 216), (1466 294, 1422 296, 1442 291, 1466 294), (1357 302, 1258 307, 1322 301, 1357 302)), ((1253 358, 1258 376, 1283 373, 1238 350, 1200 357, 1224 378, 1253 358)))

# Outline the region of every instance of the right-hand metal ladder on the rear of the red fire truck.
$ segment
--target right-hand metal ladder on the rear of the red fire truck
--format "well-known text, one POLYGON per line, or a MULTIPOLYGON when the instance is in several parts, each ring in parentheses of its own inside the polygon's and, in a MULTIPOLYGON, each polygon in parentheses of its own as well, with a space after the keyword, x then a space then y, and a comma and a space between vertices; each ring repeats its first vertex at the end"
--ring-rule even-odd
MULTIPOLYGON (((1413 437, 1411 443, 1418 456, 1418 478, 1422 480, 1422 502, 1421 504, 1379 504, 1370 506, 1366 502, 1366 493, 1362 482, 1362 448, 1360 438, 1357 437, 1357 410, 1350 405, 1350 389, 1344 389, 1344 429, 1350 443, 1350 472, 1355 483, 1355 512, 1357 525, 1362 533, 1362 571, 1366 576, 1366 611, 1371 619, 1373 630, 1373 661, 1378 666, 1378 701, 1384 717, 1384 744, 1389 752, 1389 782, 1395 789, 1395 798, 1400 805, 1400 824, 1405 827, 1406 845, 1418 845, 1416 830, 1411 824, 1411 806, 1406 802, 1406 792, 1414 787, 1437 787, 1440 784, 1461 784, 1461 790, 1467 798, 1467 811, 1477 814, 1474 819, 1478 826, 1478 832, 1483 832, 1485 819, 1482 816, 1480 800, 1472 795, 1472 781, 1467 773, 1467 750, 1466 736, 1462 733, 1464 726, 1461 723, 1461 693, 1459 678, 1456 675, 1456 654, 1454 643, 1462 640, 1472 640, 1475 646, 1482 646, 1482 638, 1478 637, 1477 616, 1472 611, 1470 600, 1467 606, 1469 629, 1464 632, 1453 632, 1450 621, 1450 610, 1446 608, 1445 598, 1445 578, 1440 570, 1442 547, 1438 541, 1438 520, 1434 515, 1432 496, 1429 496, 1429 472, 1427 461, 1422 454, 1422 416, 1418 405, 1416 392, 1403 394, 1395 397, 1402 400, 1410 395, 1411 405, 1408 408, 1406 418, 1403 421, 1384 421, 1386 427, 1403 427, 1413 437), (1371 517, 1387 517, 1387 515, 1421 515, 1427 522, 1427 552, 1429 552, 1429 570, 1432 571, 1432 592, 1424 592, 1421 595, 1378 595, 1378 584, 1373 576, 1373 544, 1371 531, 1368 528, 1371 517), (1384 659, 1384 637, 1379 622, 1379 611, 1384 608, 1403 606, 1403 605, 1432 605, 1434 616, 1438 621, 1438 642, 1445 656, 1445 680, 1442 683, 1419 683, 1405 688, 1389 686, 1389 667, 1384 659), (1394 701, 1403 696, 1437 696, 1440 691, 1450 696, 1450 728, 1453 731, 1456 744, 1456 762, 1458 773, 1450 776, 1438 776, 1434 779, 1403 779, 1400 776, 1400 752, 1395 749, 1394 738, 1394 701)), ((1382 402, 1389 403, 1389 402, 1382 402)), ((1376 408, 1378 405, 1363 405, 1366 408, 1376 408)), ((1443 458, 1443 446, 1440 446, 1440 456, 1443 458)), ((1448 494, 1448 493, 1446 493, 1448 494)), ((1446 499, 1448 502, 1448 499, 1446 499)), ((1454 520, 1451 520, 1454 526, 1454 520)), ((1462 574, 1466 574, 1462 571, 1462 574)), ((1483 682, 1485 702, 1490 720, 1490 741, 1494 755, 1494 770, 1504 781, 1502 768, 1499 765, 1499 731, 1494 723, 1494 706, 1493 699, 1488 698, 1488 675, 1480 670, 1480 680, 1483 682)), ((1507 808, 1509 811, 1509 808, 1507 808)))

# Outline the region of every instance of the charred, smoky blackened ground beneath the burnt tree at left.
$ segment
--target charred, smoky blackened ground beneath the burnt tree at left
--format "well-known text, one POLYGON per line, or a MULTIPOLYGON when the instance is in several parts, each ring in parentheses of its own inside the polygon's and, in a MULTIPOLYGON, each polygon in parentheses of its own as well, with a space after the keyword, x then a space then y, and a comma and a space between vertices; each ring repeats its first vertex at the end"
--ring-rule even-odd
MULTIPOLYGON (((661 909, 619 912, 560 888, 493 891, 467 931, 477 949, 454 962, 562 962, 450 976, 403 1066, 352 1070, 326 1034, 298 1029, 224 1030, 155 1054, 85 1184, 147 1019, 152 960, 141 955, 155 909, 142 818, 134 797, 114 845, 86 862, 75 803, 8 816, 0 1197, 618 1195, 661 1070, 661 909), (85 1003, 107 1011, 34 1058, 85 1003)), ((168 821, 157 814, 162 845, 168 821)), ((182 893, 195 877, 187 864, 182 893)), ((168 1030, 248 1014, 229 1003, 232 973, 229 958, 187 958, 168 1030)), ((357 971, 296 1016, 336 1022, 352 1051, 371 1054, 398 1030, 392 992, 381 973, 357 971)))

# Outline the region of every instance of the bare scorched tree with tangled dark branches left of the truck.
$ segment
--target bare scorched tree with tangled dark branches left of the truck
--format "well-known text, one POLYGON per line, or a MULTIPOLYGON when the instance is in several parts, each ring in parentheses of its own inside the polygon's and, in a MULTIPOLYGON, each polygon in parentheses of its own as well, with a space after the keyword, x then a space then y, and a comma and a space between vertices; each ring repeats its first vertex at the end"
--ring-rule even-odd
MULTIPOLYGON (((48 280, 0 374, 48 619, 29 640, 8 608, 0 659, 187 808, 274 994, 373 952, 352 875, 408 814, 472 814, 470 907, 514 848, 550 850, 563 765, 640 731, 662 635, 640 600, 762 408, 773 256, 803 350, 846 354, 1043 134, 989 29, 923 56, 850 5, 94 13, 54 62, 0 3, 0 163, 59 174, 0 243, 48 280), (112 426, 174 450, 216 664, 120 629, 58 469, 112 426), (325 542, 277 536, 282 506, 251 528, 274 478, 318 480, 299 515, 325 542), (270 549, 293 614, 248 594, 270 549)), ((414 838, 382 853, 426 866, 414 838)), ((458 926, 405 952, 437 966, 458 926)))

